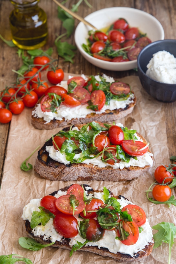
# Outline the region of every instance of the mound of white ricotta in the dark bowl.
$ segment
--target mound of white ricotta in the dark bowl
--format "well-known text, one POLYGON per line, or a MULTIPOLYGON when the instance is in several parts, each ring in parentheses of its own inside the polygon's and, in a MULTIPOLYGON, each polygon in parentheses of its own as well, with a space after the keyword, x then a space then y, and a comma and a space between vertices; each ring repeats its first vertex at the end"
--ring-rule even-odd
POLYGON ((153 54, 147 65, 146 75, 163 83, 176 83, 176 58, 165 50, 153 54))

